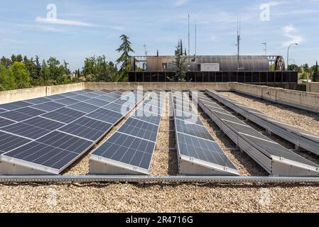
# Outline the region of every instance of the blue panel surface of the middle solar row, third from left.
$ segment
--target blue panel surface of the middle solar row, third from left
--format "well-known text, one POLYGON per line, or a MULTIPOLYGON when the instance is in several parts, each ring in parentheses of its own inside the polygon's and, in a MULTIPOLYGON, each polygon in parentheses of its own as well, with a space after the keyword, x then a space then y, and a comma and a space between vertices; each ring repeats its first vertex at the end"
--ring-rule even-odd
POLYGON ((237 168, 203 126, 188 96, 173 92, 175 133, 180 157, 184 156, 186 161, 198 160, 210 167, 227 167, 237 175, 237 168))

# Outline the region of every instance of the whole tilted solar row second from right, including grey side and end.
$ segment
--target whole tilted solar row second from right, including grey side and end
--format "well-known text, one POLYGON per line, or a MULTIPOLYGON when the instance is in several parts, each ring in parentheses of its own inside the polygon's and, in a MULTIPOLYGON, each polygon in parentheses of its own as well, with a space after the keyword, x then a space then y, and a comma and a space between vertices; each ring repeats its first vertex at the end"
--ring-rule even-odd
POLYGON ((271 175, 315 176, 319 166, 279 145, 200 94, 198 104, 222 131, 271 175))

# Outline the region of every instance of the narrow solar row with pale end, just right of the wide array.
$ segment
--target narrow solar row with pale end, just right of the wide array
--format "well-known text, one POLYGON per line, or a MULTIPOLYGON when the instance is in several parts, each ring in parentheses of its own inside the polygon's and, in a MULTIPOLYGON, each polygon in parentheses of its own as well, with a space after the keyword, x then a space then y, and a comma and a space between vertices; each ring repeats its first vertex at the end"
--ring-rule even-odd
POLYGON ((164 102, 165 92, 151 92, 123 126, 94 150, 90 173, 148 175, 164 102))

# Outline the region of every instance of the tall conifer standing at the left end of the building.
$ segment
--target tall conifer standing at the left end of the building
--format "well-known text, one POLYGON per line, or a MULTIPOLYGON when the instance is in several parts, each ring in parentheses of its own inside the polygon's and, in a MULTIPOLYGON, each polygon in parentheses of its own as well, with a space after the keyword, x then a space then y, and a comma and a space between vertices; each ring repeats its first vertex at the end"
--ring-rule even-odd
POLYGON ((127 81, 129 70, 131 70, 131 55, 130 52, 134 52, 133 48, 131 48, 131 42, 129 41, 129 37, 127 35, 120 36, 122 43, 117 48, 117 52, 121 52, 121 56, 117 60, 117 64, 119 67, 119 77, 117 78, 117 82, 127 81))

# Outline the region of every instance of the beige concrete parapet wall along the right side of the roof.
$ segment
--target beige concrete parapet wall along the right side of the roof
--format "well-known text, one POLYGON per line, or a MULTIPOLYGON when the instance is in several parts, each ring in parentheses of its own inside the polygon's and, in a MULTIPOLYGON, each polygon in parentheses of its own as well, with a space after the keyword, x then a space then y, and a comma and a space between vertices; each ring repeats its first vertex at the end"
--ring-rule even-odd
POLYGON ((229 87, 234 92, 319 113, 319 94, 236 82, 229 87))

